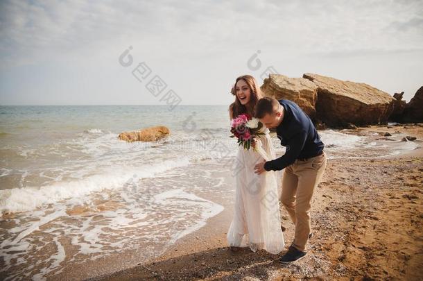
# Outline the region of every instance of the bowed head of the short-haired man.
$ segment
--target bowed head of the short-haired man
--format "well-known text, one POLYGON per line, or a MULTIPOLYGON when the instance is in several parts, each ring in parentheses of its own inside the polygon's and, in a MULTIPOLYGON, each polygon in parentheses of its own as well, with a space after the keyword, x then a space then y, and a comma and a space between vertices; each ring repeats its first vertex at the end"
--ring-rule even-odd
POLYGON ((257 102, 254 117, 260 119, 267 128, 275 128, 284 117, 284 108, 277 99, 265 96, 257 102))

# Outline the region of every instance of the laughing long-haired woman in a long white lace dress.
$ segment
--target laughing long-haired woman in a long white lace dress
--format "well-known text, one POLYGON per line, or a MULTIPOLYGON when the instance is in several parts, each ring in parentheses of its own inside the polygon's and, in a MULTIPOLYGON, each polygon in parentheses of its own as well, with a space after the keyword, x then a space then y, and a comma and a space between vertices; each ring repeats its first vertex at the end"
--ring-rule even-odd
MULTIPOLYGON (((254 116, 254 108, 261 98, 260 88, 254 77, 244 75, 236 78, 232 88, 235 101, 230 105, 230 119, 239 114, 248 113, 254 116)), ((278 180, 275 171, 254 173, 254 165, 264 160, 275 159, 275 151, 270 140, 269 129, 263 126, 257 142, 256 150, 246 150, 239 146, 236 163, 237 169, 236 198, 234 219, 227 232, 227 241, 232 250, 241 247, 245 237, 253 252, 267 250, 276 255, 284 248, 279 217, 278 180), (266 159, 268 158, 268 159, 266 159)))

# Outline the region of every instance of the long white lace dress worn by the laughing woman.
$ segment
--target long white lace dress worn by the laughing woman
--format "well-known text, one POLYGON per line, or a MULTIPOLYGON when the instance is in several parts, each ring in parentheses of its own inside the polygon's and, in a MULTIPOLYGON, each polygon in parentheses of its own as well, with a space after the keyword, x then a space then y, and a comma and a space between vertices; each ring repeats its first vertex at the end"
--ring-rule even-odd
POLYGON ((275 159, 269 130, 261 129, 259 152, 245 150, 239 146, 236 162, 236 198, 234 219, 227 232, 230 246, 250 246, 253 252, 264 249, 272 254, 282 251, 285 246, 279 216, 278 181, 275 171, 261 175, 254 173, 254 166, 264 160, 275 159), (243 239, 245 238, 245 243, 243 239))

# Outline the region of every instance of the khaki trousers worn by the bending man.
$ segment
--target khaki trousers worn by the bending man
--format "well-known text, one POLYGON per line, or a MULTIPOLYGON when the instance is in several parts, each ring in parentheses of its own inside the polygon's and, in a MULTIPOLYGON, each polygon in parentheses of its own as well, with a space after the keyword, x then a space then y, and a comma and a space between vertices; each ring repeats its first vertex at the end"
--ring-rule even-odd
POLYGON ((305 251, 310 234, 310 209, 314 189, 320 182, 327 164, 326 153, 307 160, 295 160, 284 169, 280 201, 295 224, 292 246, 305 251))

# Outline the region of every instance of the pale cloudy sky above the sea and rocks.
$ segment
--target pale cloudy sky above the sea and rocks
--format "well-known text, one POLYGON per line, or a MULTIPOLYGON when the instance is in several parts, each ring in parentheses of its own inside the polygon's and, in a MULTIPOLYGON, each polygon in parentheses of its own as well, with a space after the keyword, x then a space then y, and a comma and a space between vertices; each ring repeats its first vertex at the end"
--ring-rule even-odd
POLYGON ((0 1, 0 105, 228 105, 269 72, 409 101, 423 1, 0 1))

